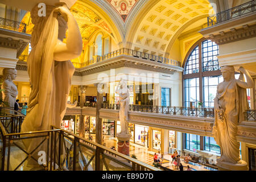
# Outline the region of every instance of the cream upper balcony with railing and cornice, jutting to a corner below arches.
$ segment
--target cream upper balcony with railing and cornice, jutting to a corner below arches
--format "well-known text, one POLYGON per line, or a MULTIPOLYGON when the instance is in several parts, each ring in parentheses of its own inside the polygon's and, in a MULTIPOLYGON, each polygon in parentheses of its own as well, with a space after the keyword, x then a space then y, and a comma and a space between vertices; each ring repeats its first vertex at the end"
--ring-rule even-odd
MULTIPOLYGON (((24 65, 26 66, 25 61, 27 61, 27 55, 20 55, 16 69, 24 69, 24 65)), ((170 74, 173 74, 174 71, 183 71, 180 61, 128 48, 121 48, 104 56, 94 56, 92 60, 84 63, 73 63, 73 65, 76 67, 75 75, 77 76, 89 75, 90 73, 100 72, 102 69, 123 66, 170 74)))

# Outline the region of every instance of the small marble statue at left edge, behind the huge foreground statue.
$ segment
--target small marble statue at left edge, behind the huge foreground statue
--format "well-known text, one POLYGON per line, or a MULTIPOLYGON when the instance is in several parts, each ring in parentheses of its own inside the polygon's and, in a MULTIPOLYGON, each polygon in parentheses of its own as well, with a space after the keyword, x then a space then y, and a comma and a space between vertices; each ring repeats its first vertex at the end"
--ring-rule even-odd
POLYGON ((16 101, 16 97, 18 96, 18 89, 16 85, 13 83, 17 76, 16 69, 13 68, 5 68, 3 69, 3 84, 2 84, 2 96, 3 101, 6 103, 5 107, 14 108, 14 104, 16 101), (8 104, 8 105, 7 105, 8 104))

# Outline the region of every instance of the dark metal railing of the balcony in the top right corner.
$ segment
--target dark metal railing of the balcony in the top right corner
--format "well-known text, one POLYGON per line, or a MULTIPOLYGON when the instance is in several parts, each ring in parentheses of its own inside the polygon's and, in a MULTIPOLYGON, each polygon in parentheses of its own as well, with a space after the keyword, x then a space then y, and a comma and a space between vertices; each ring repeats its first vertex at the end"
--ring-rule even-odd
POLYGON ((256 10, 256 0, 243 3, 240 6, 233 7, 232 9, 222 11, 216 15, 208 17, 208 27, 214 26, 218 23, 226 22, 230 19, 235 19, 243 15, 253 13, 256 10))

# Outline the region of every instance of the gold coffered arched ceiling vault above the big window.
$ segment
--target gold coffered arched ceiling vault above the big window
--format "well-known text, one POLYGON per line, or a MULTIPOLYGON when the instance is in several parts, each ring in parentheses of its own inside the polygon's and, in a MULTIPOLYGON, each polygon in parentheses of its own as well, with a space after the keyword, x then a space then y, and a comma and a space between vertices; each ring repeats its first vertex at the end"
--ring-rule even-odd
POLYGON ((185 24, 203 15, 206 22, 209 10, 212 10, 212 6, 207 0, 159 1, 143 17, 134 36, 132 49, 164 55, 171 39, 185 24))

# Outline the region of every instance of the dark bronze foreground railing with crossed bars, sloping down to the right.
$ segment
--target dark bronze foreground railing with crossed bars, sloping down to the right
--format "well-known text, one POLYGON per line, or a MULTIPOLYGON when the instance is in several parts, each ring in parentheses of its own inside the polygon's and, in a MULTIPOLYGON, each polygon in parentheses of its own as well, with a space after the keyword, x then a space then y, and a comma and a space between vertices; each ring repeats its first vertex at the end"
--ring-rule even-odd
POLYGON ((0 171, 28 170, 25 165, 28 160, 34 161, 37 169, 46 171, 160 171, 54 126, 51 130, 20 133, 23 120, 10 119, 15 116, 6 114, 0 116, 0 171), (16 125, 12 124, 14 120, 16 125), (35 149, 28 151, 23 146, 26 139, 36 142, 35 149), (45 163, 39 164, 36 159, 38 150, 46 152, 45 163))

